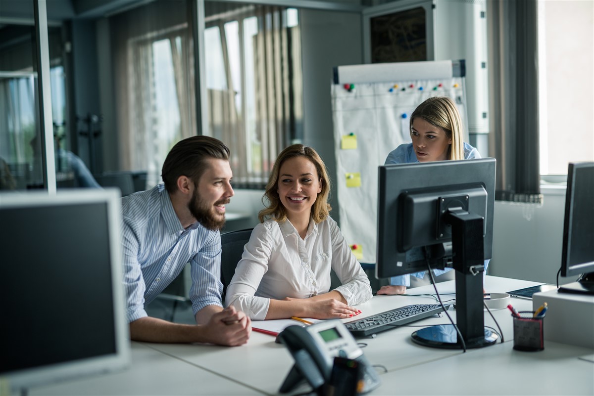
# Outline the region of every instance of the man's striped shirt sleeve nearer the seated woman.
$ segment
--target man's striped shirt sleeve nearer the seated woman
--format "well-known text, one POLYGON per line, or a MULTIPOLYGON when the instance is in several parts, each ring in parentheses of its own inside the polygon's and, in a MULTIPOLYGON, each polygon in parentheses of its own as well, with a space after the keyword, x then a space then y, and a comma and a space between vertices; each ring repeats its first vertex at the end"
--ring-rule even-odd
POLYGON ((208 305, 222 306, 223 283, 221 273, 221 237, 212 233, 211 238, 190 261, 192 287, 189 298, 194 315, 208 305))

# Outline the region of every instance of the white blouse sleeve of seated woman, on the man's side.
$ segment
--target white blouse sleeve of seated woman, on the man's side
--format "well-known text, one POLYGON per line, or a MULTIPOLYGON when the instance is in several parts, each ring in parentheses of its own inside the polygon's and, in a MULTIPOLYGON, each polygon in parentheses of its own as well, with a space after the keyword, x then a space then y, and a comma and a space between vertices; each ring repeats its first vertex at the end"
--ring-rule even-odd
POLYGON ((255 226, 225 296, 225 305, 244 311, 252 320, 266 319, 270 306, 270 299, 255 296, 271 256, 271 244, 267 237, 268 231, 263 224, 255 226))

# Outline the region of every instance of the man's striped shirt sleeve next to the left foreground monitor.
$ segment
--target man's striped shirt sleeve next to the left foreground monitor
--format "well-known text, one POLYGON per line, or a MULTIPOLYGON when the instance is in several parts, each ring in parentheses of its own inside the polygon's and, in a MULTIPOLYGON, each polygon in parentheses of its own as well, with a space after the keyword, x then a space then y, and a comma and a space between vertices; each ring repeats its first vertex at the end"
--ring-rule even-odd
POLYGON ((140 242, 138 242, 137 234, 126 219, 124 219, 122 254, 124 256, 124 288, 126 290, 126 315, 128 322, 149 316, 144 310, 144 291, 146 290, 146 285, 140 263, 138 262, 139 248, 140 242))

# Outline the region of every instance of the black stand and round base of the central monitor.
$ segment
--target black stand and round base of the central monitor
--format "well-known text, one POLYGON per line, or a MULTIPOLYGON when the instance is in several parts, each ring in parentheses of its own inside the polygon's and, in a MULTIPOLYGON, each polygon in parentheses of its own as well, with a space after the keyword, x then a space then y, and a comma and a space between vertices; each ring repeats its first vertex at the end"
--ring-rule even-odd
POLYGON ((423 346, 443 349, 482 348, 495 344, 497 334, 485 328, 483 311, 484 237, 483 218, 462 209, 450 209, 452 251, 456 270, 456 320, 465 341, 453 325, 422 328, 412 333, 412 340, 423 346))

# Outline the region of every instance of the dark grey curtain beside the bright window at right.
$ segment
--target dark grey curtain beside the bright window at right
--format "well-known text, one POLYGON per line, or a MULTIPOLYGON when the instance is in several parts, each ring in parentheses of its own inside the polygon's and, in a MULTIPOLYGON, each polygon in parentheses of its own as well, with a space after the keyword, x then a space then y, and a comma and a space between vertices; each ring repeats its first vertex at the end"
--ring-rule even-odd
POLYGON ((491 146, 496 199, 542 203, 539 175, 537 2, 488 2, 491 146))

